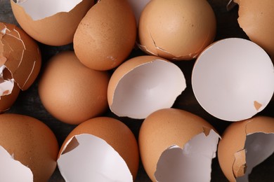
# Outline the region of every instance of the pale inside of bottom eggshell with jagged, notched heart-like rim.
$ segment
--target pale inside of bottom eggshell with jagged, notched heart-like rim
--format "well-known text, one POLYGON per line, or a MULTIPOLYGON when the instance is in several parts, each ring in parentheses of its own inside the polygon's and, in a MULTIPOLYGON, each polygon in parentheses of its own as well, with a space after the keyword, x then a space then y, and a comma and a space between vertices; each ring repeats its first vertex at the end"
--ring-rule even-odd
POLYGON ((216 157, 219 135, 210 130, 190 139, 183 148, 171 146, 157 162, 157 181, 210 181, 211 160, 216 157), (197 175, 199 174, 199 175, 197 175))

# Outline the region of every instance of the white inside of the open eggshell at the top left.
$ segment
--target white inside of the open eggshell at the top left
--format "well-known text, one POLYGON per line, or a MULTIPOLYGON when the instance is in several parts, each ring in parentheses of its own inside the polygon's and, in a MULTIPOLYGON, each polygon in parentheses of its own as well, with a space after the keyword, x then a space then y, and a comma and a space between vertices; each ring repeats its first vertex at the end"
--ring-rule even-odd
POLYGON ((60 12, 70 12, 82 0, 17 0, 32 20, 41 20, 60 12))

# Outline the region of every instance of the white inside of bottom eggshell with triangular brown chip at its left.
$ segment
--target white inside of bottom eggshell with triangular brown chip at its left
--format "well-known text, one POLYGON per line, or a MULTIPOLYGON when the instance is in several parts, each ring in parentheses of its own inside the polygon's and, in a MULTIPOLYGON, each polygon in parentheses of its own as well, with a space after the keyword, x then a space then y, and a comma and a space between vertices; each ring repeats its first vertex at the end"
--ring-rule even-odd
POLYGON ((133 181, 117 151, 92 134, 72 137, 57 162, 65 181, 133 181))

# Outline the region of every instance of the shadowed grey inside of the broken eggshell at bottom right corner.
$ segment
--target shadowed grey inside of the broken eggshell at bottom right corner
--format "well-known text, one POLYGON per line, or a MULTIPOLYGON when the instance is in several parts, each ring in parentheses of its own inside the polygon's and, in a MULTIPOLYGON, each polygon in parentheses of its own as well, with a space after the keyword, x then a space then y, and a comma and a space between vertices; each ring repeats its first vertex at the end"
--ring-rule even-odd
POLYGON ((274 153, 274 133, 265 134, 262 132, 248 134, 244 144, 247 162, 247 171, 244 176, 237 178, 238 182, 248 182, 248 176, 252 169, 266 160, 274 153))

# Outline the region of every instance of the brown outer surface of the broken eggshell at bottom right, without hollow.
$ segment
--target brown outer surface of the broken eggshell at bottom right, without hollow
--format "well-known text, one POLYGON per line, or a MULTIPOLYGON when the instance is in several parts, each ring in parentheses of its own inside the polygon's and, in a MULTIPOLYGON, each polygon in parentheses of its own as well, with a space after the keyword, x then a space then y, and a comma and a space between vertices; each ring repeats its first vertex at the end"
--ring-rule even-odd
MULTIPOLYGON (((255 116, 248 120, 230 124, 223 133, 218 144, 218 161, 223 174, 229 181, 236 181, 237 177, 243 176, 246 170, 251 167, 246 162, 249 151, 244 144, 248 135, 251 136, 256 133, 273 134, 274 118, 255 116)), ((273 146, 273 141, 270 141, 270 145, 273 146)), ((257 148, 260 148, 258 151, 263 151, 261 145, 257 145, 257 148)), ((273 153, 273 151, 269 151, 269 153, 273 153)), ((256 155, 260 154, 257 153, 256 155)), ((263 158, 267 157, 264 156, 263 158)))

